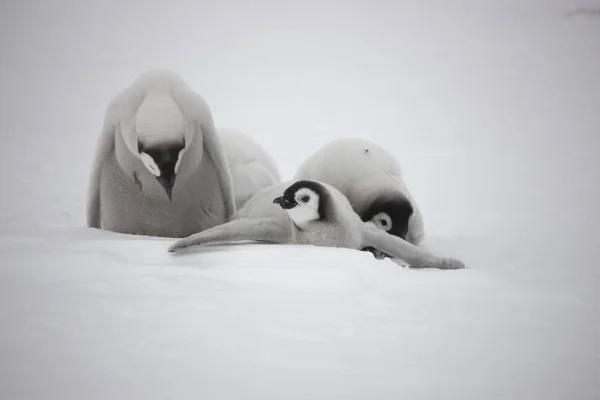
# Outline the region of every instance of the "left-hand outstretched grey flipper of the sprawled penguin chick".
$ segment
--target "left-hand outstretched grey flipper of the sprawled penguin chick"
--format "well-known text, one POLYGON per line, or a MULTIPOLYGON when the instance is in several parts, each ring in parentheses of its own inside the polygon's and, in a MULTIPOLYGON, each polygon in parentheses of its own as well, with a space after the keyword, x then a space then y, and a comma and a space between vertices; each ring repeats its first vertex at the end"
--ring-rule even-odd
POLYGON ((180 239, 169 247, 169 252, 173 253, 188 247, 224 244, 241 240, 288 243, 290 238, 289 225, 279 219, 240 218, 180 239))

